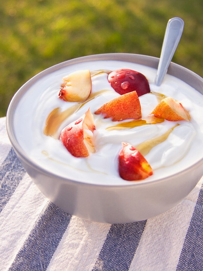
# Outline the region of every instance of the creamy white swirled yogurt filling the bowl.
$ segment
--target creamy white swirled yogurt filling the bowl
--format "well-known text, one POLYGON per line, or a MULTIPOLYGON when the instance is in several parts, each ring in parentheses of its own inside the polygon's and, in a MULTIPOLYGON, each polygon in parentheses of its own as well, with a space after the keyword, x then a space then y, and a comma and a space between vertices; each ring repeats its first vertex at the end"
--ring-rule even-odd
MULTIPOLYGON (((153 147, 145 156, 153 169, 153 175, 146 180, 160 179, 184 170, 203 156, 203 95, 185 82, 168 74, 162 85, 156 86, 155 76, 156 69, 151 67, 111 60, 77 63, 45 75, 30 87, 17 106, 14 127, 18 142, 35 163, 59 176, 89 183, 119 185, 125 182, 130 185, 133 182, 121 179, 118 173, 121 142, 125 141, 136 146, 145 140, 164 134, 178 123, 180 125, 173 129, 168 138, 153 147), (165 120, 159 124, 107 131, 107 127, 114 126, 118 122, 103 119, 102 115, 93 115, 96 126, 93 142, 96 153, 86 158, 73 157, 60 140, 44 135, 43 130, 47 116, 54 108, 60 107, 63 111, 76 104, 58 99, 58 93, 62 77, 80 69, 90 71, 132 69, 141 72, 148 79, 151 91, 171 96, 181 102, 189 110, 191 121, 165 120)), ((59 134, 67 124, 79 118, 89 107, 94 113, 106 102, 120 96, 110 86, 106 73, 93 76, 92 93, 103 89, 110 91, 89 101, 75 114, 68 117, 61 124, 59 134)), ((139 99, 144 119, 158 104, 158 100, 152 93, 142 95, 139 99)))

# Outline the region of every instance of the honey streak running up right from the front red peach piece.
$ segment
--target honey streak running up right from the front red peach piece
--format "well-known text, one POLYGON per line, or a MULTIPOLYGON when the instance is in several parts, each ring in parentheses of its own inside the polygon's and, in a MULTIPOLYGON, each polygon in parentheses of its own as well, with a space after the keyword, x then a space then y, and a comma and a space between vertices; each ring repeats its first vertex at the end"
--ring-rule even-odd
POLYGON ((171 132, 173 131, 173 129, 175 127, 177 127, 180 124, 176 124, 174 127, 170 128, 168 131, 166 131, 166 133, 152 138, 152 139, 148 139, 142 143, 140 143, 139 145, 135 146, 135 148, 143 155, 145 156, 146 154, 148 154, 150 152, 150 150, 155 147, 156 145, 162 143, 163 141, 165 141, 169 134, 171 134, 171 132))

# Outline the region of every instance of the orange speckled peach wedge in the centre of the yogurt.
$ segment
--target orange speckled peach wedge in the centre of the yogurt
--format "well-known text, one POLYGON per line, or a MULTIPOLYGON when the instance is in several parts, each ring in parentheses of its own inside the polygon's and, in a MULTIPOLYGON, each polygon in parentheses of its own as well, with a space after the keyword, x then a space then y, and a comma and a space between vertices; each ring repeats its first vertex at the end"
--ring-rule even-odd
POLYGON ((141 106, 137 92, 132 91, 107 102, 94 114, 103 114, 104 118, 112 118, 112 121, 141 118, 141 106))

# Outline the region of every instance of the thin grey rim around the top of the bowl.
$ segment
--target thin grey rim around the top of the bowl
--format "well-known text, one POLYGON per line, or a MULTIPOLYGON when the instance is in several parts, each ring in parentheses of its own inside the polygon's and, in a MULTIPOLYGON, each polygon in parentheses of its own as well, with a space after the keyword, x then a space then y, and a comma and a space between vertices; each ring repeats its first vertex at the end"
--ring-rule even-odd
MULTIPOLYGON (((166 176, 164 178, 159 178, 159 179, 155 179, 155 180, 141 180, 141 181, 133 181, 133 182, 127 182, 126 183, 121 183, 121 184, 117 184, 117 185, 113 185, 113 184, 98 184, 98 183, 89 183, 89 182, 82 182, 79 181, 77 179, 68 179, 68 178, 64 178, 62 176, 59 176, 55 173, 50 172, 49 170, 45 169, 44 167, 41 167, 39 164, 35 163, 27 154, 26 152, 21 148, 21 146, 19 145, 17 138, 15 137, 15 133, 14 133, 14 125, 12 123, 12 117, 15 113, 15 108, 16 108, 16 104, 18 103, 19 99, 21 98, 21 96, 24 95, 24 93, 29 89, 29 87, 38 79, 42 78, 44 75, 47 75, 50 72, 53 72, 57 69, 60 69, 62 67, 71 65, 71 64, 75 64, 75 63, 80 63, 80 62, 86 62, 86 61, 94 61, 94 60, 104 60, 104 57, 129 57, 129 59, 131 59, 132 56, 134 57, 138 57, 138 59, 147 59, 147 60, 151 60, 153 66, 149 66, 149 67, 154 67, 157 68, 158 67, 158 62, 159 62, 159 58, 158 57, 153 57, 153 56, 147 56, 147 55, 142 55, 142 54, 132 54, 132 53, 106 53, 106 54, 93 54, 93 55, 88 55, 88 56, 82 56, 82 57, 77 57, 74 59, 70 59, 70 60, 66 60, 64 62, 55 64, 51 67, 48 67, 45 70, 42 70, 40 73, 36 74, 35 76, 33 76, 31 79, 29 79, 27 82, 24 83, 24 85, 21 86, 21 88, 19 88, 19 90, 15 93, 15 95, 13 96, 8 110, 7 110, 7 114, 6 114, 6 129, 7 129, 7 133, 8 133, 8 137, 9 140, 11 141, 12 146, 14 147, 14 150, 18 153, 18 155, 20 156, 20 158, 22 160, 25 161, 25 163, 28 163, 32 168, 40 171, 41 173, 48 175, 49 177, 52 178, 56 178, 56 179, 60 179, 62 181, 66 181, 66 182, 71 182, 74 184, 80 184, 80 185, 87 185, 87 186, 99 186, 102 188, 123 188, 123 187, 131 187, 131 186, 142 186, 142 185, 153 185, 154 183, 157 182, 163 182, 166 181, 168 179, 174 178, 174 177, 178 177, 181 176, 187 172, 190 172, 190 170, 192 170, 193 168, 199 167, 199 165, 201 165, 203 163, 203 158, 201 158, 200 160, 198 160, 196 163, 192 164, 191 166, 189 166, 188 168, 181 170, 177 173, 174 173, 172 175, 166 176), (99 59, 98 59, 99 58, 99 59)), ((116 60, 116 59, 115 59, 116 60)), ((118 60, 118 59, 117 59, 118 60)), ((120 60, 120 59, 119 59, 120 60)), ((129 60, 120 60, 120 61, 128 61, 128 62, 133 62, 129 61, 129 60)), ((141 60, 140 60, 141 61, 141 60)), ((133 62, 133 63, 138 63, 138 62, 133 62)), ((147 65, 146 65, 147 66, 147 65)), ((176 68, 176 69, 180 69, 181 72, 183 73, 189 73, 192 77, 195 78, 195 80, 199 80, 199 82, 202 84, 203 86, 203 78, 201 78, 201 76, 197 75, 196 73, 192 72, 191 70, 171 62, 168 72, 169 74, 175 76, 175 74, 171 73, 171 69, 172 68, 176 68)), ((175 76, 177 77, 177 76, 175 76)), ((179 77, 177 77, 179 78, 179 77)), ((187 82, 188 83, 188 82, 187 82)), ((189 83, 188 83, 189 84, 189 83)), ((190 84, 189 84, 190 85, 190 84)), ((194 87, 194 86, 192 86, 194 87)), ((198 90, 197 90, 198 91, 198 90)), ((198 91, 200 92, 200 91, 198 91)), ((201 93, 201 92, 200 92, 201 93)), ((201 93, 202 94, 202 93, 201 93)))

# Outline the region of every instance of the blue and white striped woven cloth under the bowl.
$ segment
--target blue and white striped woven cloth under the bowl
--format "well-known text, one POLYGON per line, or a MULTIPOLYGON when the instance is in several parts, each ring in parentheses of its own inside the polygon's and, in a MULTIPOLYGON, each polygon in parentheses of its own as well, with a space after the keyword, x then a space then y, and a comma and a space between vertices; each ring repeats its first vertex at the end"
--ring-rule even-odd
POLYGON ((203 270, 203 188, 172 210, 131 224, 72 216, 23 169, 0 118, 0 270, 203 270))

